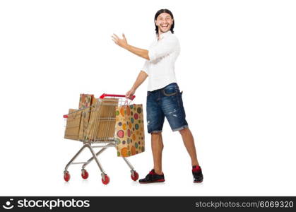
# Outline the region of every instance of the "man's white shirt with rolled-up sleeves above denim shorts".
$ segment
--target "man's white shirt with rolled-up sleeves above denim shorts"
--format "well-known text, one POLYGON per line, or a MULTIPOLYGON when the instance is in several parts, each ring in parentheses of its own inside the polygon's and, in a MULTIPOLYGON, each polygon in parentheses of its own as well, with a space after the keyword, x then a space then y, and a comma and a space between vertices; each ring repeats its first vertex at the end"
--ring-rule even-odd
POLYGON ((150 60, 142 68, 148 74, 148 91, 164 88, 170 83, 177 83, 174 74, 174 63, 179 56, 180 45, 171 31, 162 33, 160 40, 156 36, 148 49, 150 60))

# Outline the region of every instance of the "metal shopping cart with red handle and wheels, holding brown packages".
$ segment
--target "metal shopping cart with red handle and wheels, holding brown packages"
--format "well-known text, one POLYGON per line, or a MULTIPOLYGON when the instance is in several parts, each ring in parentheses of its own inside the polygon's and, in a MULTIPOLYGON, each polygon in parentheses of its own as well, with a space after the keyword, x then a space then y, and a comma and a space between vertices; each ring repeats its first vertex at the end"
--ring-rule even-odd
MULTIPOLYGON (((135 96, 131 98, 134 100, 135 96)), ((125 95, 113 95, 113 94, 102 94, 100 98, 94 99, 93 105, 85 107, 81 110, 69 111, 69 114, 65 114, 66 119, 66 134, 69 134, 68 139, 74 139, 83 142, 83 147, 73 156, 73 158, 66 165, 64 170, 64 180, 66 182, 70 179, 68 168, 73 164, 83 164, 81 169, 81 177, 88 179, 88 172, 85 167, 95 160, 97 166, 100 169, 102 175, 102 183, 109 183, 109 176, 103 170, 100 161, 97 156, 104 152, 109 147, 116 147, 114 141, 115 131, 115 107, 121 105, 130 105, 131 100, 125 98, 125 95), (67 133, 68 130, 68 133, 67 133), (76 132, 76 135, 73 134, 76 132), (77 132, 79 131, 79 134, 77 132), (100 145, 98 145, 100 144, 100 145), (90 153, 93 155, 86 162, 73 162, 81 152, 88 148, 90 153), (95 153, 95 148, 101 148, 100 151, 95 153)), ((136 181, 138 179, 138 173, 134 170, 134 167, 129 163, 129 160, 122 157, 125 163, 131 169, 131 179, 136 181)))

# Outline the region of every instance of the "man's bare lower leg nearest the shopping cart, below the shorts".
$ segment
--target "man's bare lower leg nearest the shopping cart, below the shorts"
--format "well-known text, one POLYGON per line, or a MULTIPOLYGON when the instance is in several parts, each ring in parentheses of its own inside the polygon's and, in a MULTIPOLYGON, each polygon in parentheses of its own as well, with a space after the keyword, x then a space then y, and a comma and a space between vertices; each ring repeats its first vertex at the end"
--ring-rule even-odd
POLYGON ((161 132, 151 134, 151 147, 153 153, 154 171, 158 175, 162 175, 162 134, 161 132))

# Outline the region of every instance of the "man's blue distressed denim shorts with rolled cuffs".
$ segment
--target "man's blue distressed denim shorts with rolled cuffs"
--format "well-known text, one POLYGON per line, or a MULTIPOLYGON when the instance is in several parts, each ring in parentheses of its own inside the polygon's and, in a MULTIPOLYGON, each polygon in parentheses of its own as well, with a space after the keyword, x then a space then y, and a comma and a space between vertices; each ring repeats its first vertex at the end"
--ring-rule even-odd
POLYGON ((161 132, 165 117, 172 131, 187 128, 182 93, 177 83, 147 93, 147 127, 148 133, 161 132))

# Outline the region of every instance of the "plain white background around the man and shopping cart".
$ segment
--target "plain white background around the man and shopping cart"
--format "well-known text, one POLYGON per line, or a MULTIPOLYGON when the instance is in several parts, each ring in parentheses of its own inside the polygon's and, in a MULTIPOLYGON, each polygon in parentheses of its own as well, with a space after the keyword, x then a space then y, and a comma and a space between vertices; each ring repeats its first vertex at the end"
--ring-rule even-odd
MULTIPOLYGON (((0 1, 0 194, 295 195, 295 11, 295 1, 0 1), (88 180, 71 166, 65 183, 81 143, 64 139, 62 115, 80 93, 131 88, 144 59, 110 36, 147 48, 160 8, 175 18, 177 80, 203 183, 192 183, 189 155, 167 122, 164 184, 132 182, 112 148, 100 157, 107 186, 95 163, 88 180)), ((136 103, 146 105, 146 88, 136 103)), ((149 134, 146 152, 130 161, 140 177, 153 167, 149 134)))

